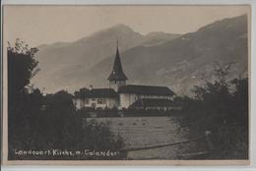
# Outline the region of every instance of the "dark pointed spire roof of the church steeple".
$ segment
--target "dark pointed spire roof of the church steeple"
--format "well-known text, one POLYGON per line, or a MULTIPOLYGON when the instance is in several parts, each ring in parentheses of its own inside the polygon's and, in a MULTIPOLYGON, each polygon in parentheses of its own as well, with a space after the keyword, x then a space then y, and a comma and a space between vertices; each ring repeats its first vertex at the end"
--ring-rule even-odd
POLYGON ((107 80, 108 81, 126 81, 126 80, 128 80, 123 72, 118 47, 116 49, 113 69, 112 69, 112 72, 110 73, 109 77, 107 78, 107 80))

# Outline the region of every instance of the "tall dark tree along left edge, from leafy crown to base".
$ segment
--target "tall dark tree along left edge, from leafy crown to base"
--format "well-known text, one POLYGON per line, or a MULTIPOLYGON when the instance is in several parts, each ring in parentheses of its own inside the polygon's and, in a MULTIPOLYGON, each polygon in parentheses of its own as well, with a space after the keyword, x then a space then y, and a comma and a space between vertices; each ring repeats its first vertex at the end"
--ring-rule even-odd
MULTIPOLYGON (((28 44, 16 39, 14 45, 9 43, 8 59, 8 131, 9 147, 29 146, 32 137, 27 137, 32 131, 32 113, 37 113, 41 105, 42 96, 36 89, 29 95, 30 81, 39 71, 38 62, 34 59, 37 48, 30 48, 28 44), (26 142, 21 142, 23 139, 26 142)), ((10 149, 9 148, 9 149, 10 149)))

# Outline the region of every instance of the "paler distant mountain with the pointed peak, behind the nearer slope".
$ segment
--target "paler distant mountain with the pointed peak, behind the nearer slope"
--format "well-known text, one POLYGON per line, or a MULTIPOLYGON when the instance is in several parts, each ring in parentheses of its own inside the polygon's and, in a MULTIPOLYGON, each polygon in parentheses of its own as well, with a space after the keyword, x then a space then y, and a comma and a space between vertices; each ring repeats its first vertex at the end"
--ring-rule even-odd
MULTIPOLYGON (((115 53, 116 40, 121 51, 138 45, 153 46, 178 37, 179 34, 154 32, 142 35, 125 25, 98 30, 90 36, 75 42, 56 42, 38 46, 35 59, 40 72, 32 79, 32 85, 45 88, 47 92, 70 87, 87 85, 77 82, 93 66, 115 53), (75 82, 76 81, 76 82, 75 82)), ((85 80, 85 78, 81 78, 85 80)))

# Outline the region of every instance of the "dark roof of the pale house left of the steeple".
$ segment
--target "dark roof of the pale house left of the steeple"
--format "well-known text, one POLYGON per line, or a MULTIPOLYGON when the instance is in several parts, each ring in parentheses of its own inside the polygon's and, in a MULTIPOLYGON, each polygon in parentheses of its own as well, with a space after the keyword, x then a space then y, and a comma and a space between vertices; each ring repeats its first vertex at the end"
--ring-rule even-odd
POLYGON ((118 93, 112 88, 82 88, 75 93, 77 98, 118 98, 118 93))

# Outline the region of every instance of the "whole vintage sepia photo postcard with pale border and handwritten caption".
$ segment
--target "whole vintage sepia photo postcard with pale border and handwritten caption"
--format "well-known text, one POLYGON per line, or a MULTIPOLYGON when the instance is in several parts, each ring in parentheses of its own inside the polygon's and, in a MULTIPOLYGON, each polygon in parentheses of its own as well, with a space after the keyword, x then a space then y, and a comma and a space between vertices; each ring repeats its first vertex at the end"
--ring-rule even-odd
POLYGON ((249 5, 4 5, 4 164, 245 165, 249 5))

